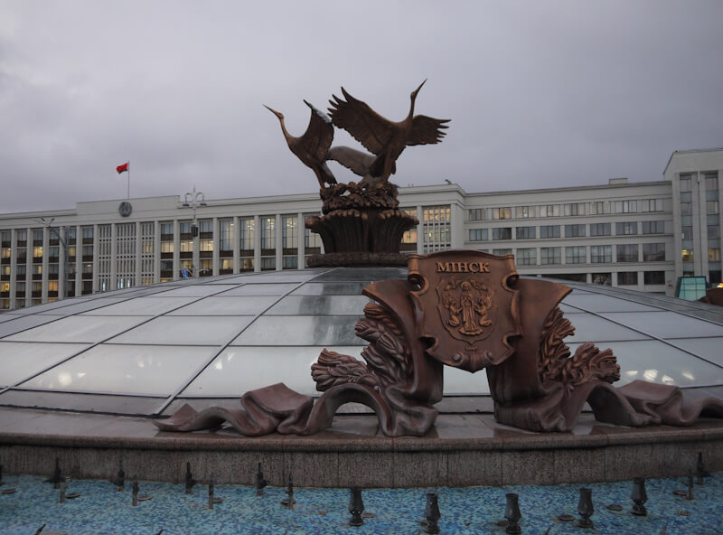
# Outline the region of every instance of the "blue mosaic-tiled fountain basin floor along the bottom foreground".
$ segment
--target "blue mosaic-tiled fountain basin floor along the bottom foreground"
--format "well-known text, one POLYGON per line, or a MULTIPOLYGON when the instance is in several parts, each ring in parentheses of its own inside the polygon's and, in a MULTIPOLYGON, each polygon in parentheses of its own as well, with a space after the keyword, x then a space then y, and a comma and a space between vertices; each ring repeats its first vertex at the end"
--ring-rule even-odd
POLYGON ((360 527, 348 525, 346 506, 348 489, 296 490, 293 511, 281 506, 285 489, 268 487, 264 496, 245 486, 219 486, 215 495, 223 502, 208 509, 205 485, 198 484, 192 494, 183 493, 183 485, 140 483, 140 494, 152 499, 131 506, 130 483, 118 493, 111 483, 78 480, 68 484, 67 493, 80 497, 58 502, 59 491, 42 478, 5 476, 0 491, 16 489, 16 493, 0 495, 0 534, 31 535, 42 524, 45 531, 66 531, 70 535, 291 535, 337 534, 359 535, 388 533, 421 533, 425 494, 438 493, 443 534, 504 533, 497 522, 502 520, 506 493, 520 495, 522 533, 550 535, 581 533, 658 534, 667 524, 669 535, 723 533, 723 474, 714 474, 704 485, 695 486, 695 500, 688 501, 672 493, 684 489, 682 479, 655 479, 645 482, 648 516, 630 514, 633 502, 632 482, 593 483, 595 528, 577 528, 578 489, 583 485, 505 486, 434 489, 365 489, 363 501, 365 521, 360 527), (622 512, 606 509, 617 503, 622 512), (568 513, 576 521, 563 522, 558 516, 568 513))

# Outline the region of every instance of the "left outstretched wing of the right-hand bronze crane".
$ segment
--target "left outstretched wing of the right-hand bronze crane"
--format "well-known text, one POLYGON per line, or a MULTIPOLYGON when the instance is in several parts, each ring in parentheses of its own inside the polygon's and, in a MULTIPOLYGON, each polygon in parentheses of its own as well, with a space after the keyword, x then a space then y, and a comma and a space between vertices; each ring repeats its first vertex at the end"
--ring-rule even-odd
POLYGON ((336 95, 329 100, 333 125, 349 132, 371 154, 379 155, 390 142, 393 123, 381 117, 366 102, 354 99, 346 89, 342 88, 342 94, 346 100, 336 95))

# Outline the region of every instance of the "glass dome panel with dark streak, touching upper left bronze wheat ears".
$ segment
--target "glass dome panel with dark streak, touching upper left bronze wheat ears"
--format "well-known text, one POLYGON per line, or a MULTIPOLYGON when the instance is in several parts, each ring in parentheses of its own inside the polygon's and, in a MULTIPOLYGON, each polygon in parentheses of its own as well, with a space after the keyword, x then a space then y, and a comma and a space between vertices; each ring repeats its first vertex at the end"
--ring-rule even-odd
POLYGON ((262 316, 231 345, 366 345, 354 334, 358 316, 262 316))

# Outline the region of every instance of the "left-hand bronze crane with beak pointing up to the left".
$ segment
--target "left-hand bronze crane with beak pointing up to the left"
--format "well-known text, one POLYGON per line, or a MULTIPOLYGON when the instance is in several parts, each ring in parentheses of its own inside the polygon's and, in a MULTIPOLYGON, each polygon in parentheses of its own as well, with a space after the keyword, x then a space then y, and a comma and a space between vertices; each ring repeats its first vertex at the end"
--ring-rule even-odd
POLYGON ((264 105, 264 108, 267 108, 278 117, 281 123, 281 131, 284 133, 284 137, 286 137, 286 144, 291 149, 291 152, 294 153, 303 164, 311 167, 312 171, 316 174, 319 185, 323 188, 326 183, 336 183, 332 171, 326 165, 326 154, 329 152, 329 147, 333 141, 333 125, 324 112, 314 108, 314 106, 308 102, 304 102, 306 106, 311 108, 311 118, 309 119, 309 126, 306 127, 304 135, 299 137, 291 136, 286 131, 284 114, 278 112, 276 109, 268 108, 266 105, 264 105))

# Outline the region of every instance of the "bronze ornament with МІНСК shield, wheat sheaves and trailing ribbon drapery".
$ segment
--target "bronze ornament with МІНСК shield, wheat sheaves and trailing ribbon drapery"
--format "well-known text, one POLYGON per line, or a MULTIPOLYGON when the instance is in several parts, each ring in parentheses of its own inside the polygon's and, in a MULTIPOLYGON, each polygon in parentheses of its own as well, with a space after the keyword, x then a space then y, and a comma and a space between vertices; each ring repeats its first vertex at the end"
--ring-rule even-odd
POLYGON ((312 364, 319 399, 277 383, 245 393, 240 408, 184 405, 155 425, 192 431, 227 422, 242 435, 312 435, 344 403, 374 410, 387 436, 423 436, 442 399, 444 366, 485 369, 497 421, 534 431, 568 431, 587 402, 598 420, 626 426, 690 425, 705 411, 723 418, 723 400, 686 399, 682 390, 635 380, 622 388, 608 349, 583 343, 559 309, 571 288, 520 279, 512 255, 454 250, 410 255, 408 280, 366 286, 375 303, 355 326, 369 344, 362 359, 324 350, 312 364))

